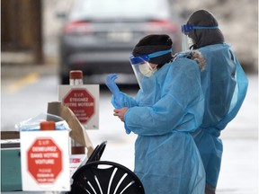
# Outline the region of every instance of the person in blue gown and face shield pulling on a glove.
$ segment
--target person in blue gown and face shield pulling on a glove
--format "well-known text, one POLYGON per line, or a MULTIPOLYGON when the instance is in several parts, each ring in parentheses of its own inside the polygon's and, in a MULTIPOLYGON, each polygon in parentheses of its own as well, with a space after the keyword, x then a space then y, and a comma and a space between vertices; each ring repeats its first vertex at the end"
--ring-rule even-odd
POLYGON ((108 75, 106 84, 113 94, 114 116, 128 134, 138 135, 134 172, 146 193, 201 194, 204 168, 190 132, 201 125, 204 64, 187 57, 173 61, 172 44, 167 35, 139 40, 130 57, 140 86, 135 97, 121 93, 114 83, 117 75, 108 75))

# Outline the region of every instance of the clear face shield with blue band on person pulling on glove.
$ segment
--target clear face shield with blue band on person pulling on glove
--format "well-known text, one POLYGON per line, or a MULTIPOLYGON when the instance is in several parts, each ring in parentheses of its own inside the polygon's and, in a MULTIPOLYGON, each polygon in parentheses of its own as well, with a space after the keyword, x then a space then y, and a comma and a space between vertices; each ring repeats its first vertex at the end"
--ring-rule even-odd
POLYGON ((138 85, 141 91, 143 91, 142 85, 141 85, 143 82, 143 79, 147 79, 148 77, 154 75, 157 71, 156 66, 158 64, 150 63, 149 62, 150 58, 162 56, 169 52, 172 52, 172 49, 158 51, 155 53, 151 53, 149 55, 143 55, 139 57, 134 57, 134 56, 129 57, 130 64, 137 78, 138 85))

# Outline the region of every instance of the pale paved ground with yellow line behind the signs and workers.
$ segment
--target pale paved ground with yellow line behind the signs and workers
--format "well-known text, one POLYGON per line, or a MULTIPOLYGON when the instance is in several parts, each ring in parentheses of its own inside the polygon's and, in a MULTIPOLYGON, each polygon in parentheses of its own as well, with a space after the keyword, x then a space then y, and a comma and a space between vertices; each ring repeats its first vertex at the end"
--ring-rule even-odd
MULTIPOLYGON (((6 72, 6 68, 2 68, 1 130, 13 130, 15 123, 46 112, 48 101, 58 101, 55 72, 49 75, 51 71, 46 69, 29 70, 21 69, 14 75, 12 69, 6 72)), ((246 101, 221 136, 224 154, 217 192, 220 194, 258 193, 258 78, 257 75, 248 78, 246 101)), ((112 116, 110 97, 110 93, 101 91, 100 129, 87 133, 94 145, 108 141, 102 160, 133 169, 136 136, 126 135, 121 121, 112 116)))

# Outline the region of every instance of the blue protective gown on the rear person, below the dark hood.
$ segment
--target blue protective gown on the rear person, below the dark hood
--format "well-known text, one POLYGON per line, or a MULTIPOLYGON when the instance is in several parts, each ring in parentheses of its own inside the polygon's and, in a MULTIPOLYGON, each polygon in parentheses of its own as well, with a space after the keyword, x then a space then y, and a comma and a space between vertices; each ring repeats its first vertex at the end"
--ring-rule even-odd
POLYGON ((216 188, 223 145, 220 131, 234 119, 246 96, 247 78, 228 44, 199 48, 206 60, 201 72, 205 110, 201 127, 193 133, 206 171, 206 182, 216 188))

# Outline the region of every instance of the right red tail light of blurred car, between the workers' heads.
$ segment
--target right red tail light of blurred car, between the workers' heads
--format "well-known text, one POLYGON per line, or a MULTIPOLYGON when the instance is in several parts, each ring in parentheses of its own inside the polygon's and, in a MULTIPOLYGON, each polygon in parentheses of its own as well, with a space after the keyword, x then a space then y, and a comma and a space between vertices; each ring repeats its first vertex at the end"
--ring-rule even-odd
POLYGON ((177 31, 177 26, 169 20, 155 20, 148 23, 147 31, 177 31))

